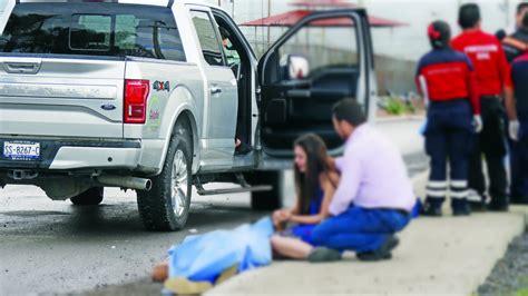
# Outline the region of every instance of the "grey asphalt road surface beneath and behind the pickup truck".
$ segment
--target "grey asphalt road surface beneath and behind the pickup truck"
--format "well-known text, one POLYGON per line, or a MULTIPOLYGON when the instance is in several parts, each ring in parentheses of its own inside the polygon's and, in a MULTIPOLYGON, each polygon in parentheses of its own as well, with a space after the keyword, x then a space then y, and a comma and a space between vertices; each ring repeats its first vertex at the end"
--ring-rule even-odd
MULTIPOLYGON (((387 122, 380 129, 402 149, 421 149, 420 121, 387 122)), ((409 158, 411 170, 423 158, 409 158)), ((293 199, 292 178, 286 190, 293 199)), ((224 185, 225 186, 225 185, 224 185)), ((248 195, 199 197, 185 230, 144 230, 134 191, 107 189, 98 207, 51 201, 37 187, 8 186, 0 191, 0 295, 65 294, 133 283, 149 275, 166 250, 189 234, 234 228, 266 213, 250 209, 248 195)))

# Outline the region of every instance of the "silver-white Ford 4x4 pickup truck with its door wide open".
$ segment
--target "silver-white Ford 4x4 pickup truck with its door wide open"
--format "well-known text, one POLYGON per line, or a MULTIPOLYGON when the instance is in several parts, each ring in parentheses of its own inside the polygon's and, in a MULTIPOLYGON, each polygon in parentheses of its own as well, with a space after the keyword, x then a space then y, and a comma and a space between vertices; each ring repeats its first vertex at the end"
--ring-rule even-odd
POLYGON ((375 106, 362 9, 310 14, 260 61, 226 12, 186 0, 11 0, 0 30, 0 186, 75 205, 136 189, 151 230, 184 227, 192 186, 281 206, 295 138, 339 154, 332 105, 375 106))

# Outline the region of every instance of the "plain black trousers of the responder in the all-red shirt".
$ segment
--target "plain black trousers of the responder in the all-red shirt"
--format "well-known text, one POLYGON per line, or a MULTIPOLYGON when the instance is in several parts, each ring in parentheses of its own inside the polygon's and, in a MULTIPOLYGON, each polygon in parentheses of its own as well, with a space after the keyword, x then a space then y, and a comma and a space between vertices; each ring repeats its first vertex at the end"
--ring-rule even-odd
POLYGON ((505 205, 507 199, 508 179, 506 174, 505 157, 506 128, 505 109, 498 97, 482 97, 481 116, 483 129, 475 136, 475 146, 471 152, 469 168, 469 188, 476 190, 481 197, 486 193, 486 179, 482 171, 482 156, 486 159, 489 175, 489 195, 491 203, 505 205))

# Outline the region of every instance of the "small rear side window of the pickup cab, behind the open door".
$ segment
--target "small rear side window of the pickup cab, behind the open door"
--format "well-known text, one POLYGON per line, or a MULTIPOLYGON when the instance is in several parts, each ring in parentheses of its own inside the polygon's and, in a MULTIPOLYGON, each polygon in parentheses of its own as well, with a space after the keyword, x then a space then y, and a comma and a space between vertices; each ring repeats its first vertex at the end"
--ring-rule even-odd
POLYGON ((216 24, 205 11, 190 11, 193 23, 198 33, 205 61, 211 66, 225 66, 224 51, 221 46, 216 24))

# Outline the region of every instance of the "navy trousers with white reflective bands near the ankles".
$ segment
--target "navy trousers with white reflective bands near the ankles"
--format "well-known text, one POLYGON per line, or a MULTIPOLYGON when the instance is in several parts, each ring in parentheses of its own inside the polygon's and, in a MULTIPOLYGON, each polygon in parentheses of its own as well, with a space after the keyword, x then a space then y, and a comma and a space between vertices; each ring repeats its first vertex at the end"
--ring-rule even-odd
POLYGON ((427 188, 428 203, 440 207, 451 191, 453 209, 465 206, 468 186, 469 152, 472 140, 472 111, 469 100, 431 102, 428 109, 426 151, 431 158, 427 188), (448 186, 447 162, 450 167, 448 186), (449 187, 449 188, 448 188, 449 187))

